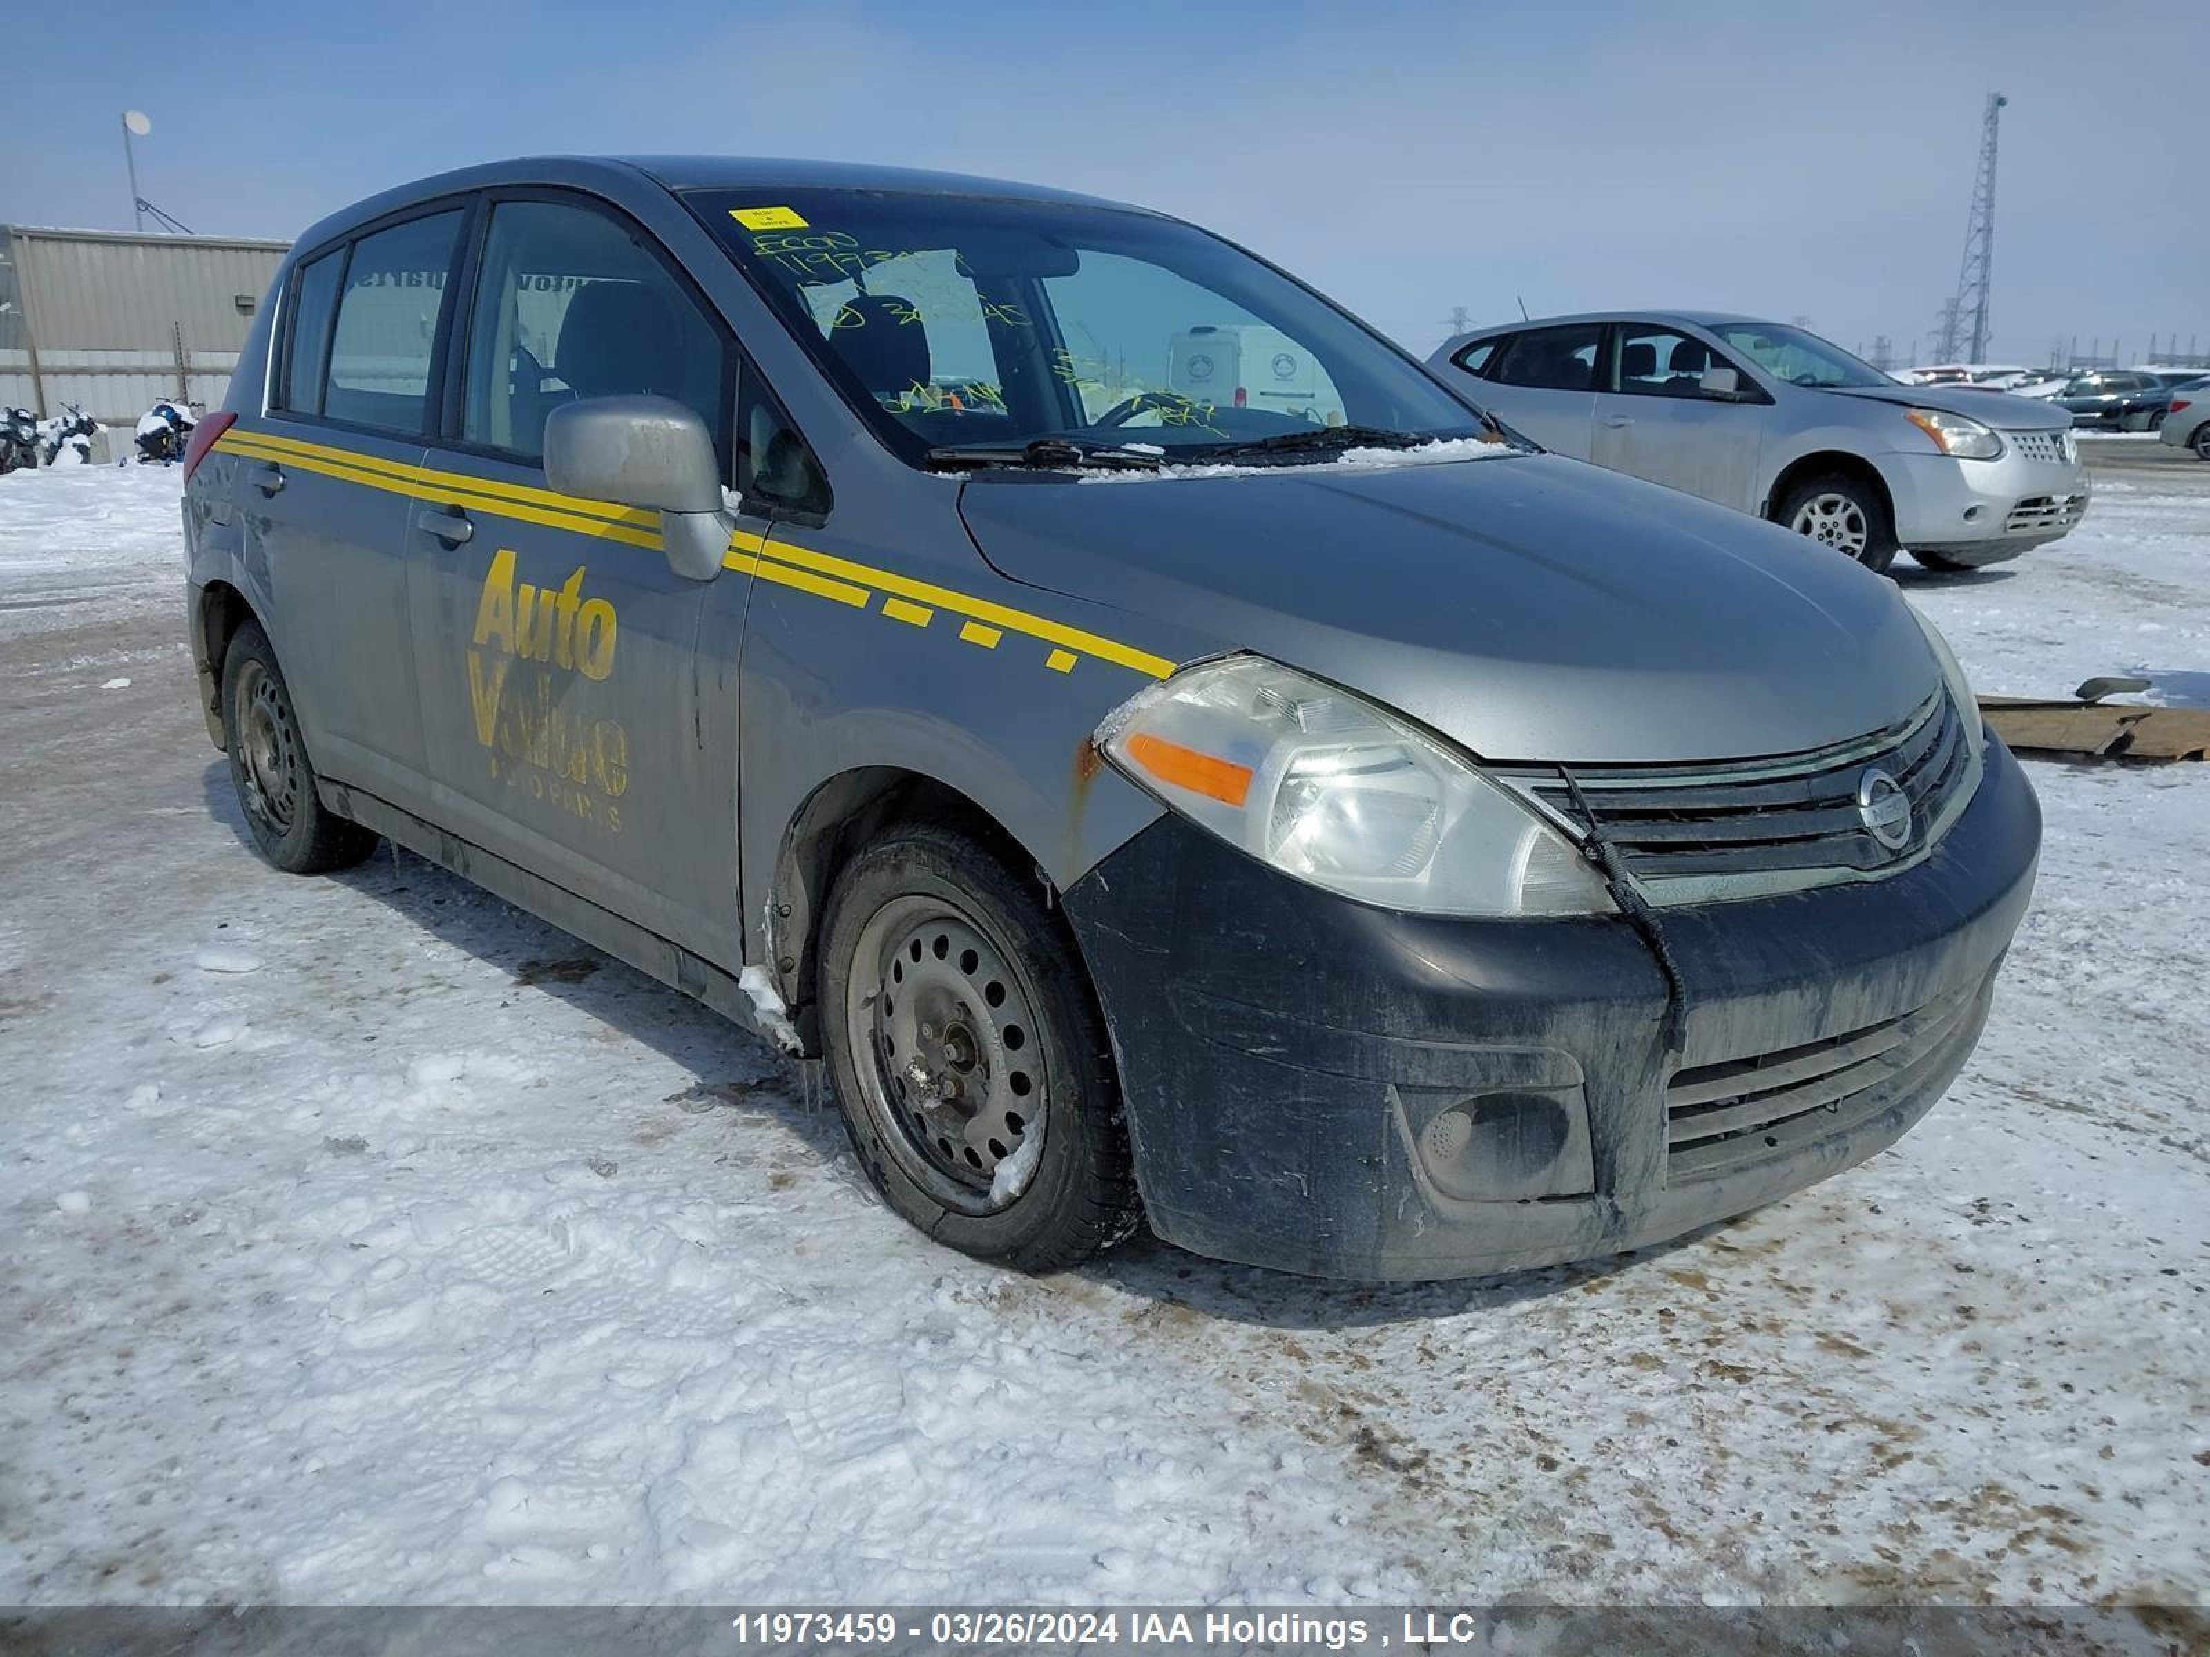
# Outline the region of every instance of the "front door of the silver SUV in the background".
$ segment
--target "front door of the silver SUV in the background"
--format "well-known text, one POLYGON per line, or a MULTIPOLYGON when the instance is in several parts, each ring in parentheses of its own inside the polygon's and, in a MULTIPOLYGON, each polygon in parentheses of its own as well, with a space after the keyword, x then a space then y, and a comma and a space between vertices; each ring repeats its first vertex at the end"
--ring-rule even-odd
POLYGON ((1748 513, 1770 404, 1706 398, 1706 367, 1733 369, 1746 391, 1757 387, 1739 362, 1682 329, 1613 323, 1589 460, 1748 513))

